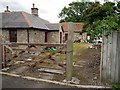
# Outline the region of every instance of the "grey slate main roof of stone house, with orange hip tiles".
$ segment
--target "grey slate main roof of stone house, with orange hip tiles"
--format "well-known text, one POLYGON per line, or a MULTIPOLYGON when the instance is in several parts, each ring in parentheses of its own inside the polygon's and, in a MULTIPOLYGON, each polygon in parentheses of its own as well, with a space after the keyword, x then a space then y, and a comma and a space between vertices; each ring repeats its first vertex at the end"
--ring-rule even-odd
POLYGON ((46 24, 50 24, 47 20, 31 15, 26 12, 3 12, 2 28, 38 28, 49 30, 46 24))

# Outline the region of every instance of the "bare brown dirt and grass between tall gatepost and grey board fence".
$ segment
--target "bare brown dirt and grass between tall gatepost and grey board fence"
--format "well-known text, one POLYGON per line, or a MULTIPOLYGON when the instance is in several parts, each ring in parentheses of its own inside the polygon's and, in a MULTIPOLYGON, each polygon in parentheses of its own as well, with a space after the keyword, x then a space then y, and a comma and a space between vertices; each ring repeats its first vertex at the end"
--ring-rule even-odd
POLYGON ((74 55, 75 64, 74 76, 82 84, 100 85, 100 48, 87 48, 90 44, 75 44, 74 55), (78 49, 79 48, 79 49, 78 49))

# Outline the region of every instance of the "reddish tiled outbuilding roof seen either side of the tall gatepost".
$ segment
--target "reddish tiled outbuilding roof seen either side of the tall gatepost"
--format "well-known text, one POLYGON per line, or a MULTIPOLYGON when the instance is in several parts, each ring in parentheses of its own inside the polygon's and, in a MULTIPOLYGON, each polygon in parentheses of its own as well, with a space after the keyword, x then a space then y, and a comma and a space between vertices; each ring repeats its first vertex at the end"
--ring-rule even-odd
MULTIPOLYGON (((67 22, 63 22, 62 24, 62 28, 64 32, 68 32, 68 23, 67 22)), ((73 27, 74 27, 74 32, 79 33, 83 30, 83 23, 73 23, 73 27)))

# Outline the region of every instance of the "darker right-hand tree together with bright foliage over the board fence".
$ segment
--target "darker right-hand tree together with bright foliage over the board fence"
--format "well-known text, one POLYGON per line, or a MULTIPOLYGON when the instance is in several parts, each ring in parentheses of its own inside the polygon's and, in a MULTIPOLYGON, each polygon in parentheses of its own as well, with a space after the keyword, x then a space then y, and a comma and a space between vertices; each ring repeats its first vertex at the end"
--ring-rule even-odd
POLYGON ((120 27, 119 3, 105 2, 103 5, 94 3, 85 12, 85 28, 92 38, 111 34, 113 30, 118 31, 120 27))

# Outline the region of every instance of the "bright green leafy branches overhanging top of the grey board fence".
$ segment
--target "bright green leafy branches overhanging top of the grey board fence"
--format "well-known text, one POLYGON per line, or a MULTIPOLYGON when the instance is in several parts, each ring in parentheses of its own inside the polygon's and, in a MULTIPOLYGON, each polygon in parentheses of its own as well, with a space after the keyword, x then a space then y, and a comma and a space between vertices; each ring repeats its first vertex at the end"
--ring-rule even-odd
POLYGON ((111 34, 111 32, 117 31, 119 27, 116 16, 107 16, 103 20, 94 21, 91 26, 88 26, 86 31, 92 35, 92 38, 101 37, 104 32, 105 36, 111 34))

